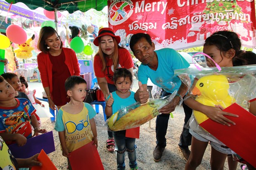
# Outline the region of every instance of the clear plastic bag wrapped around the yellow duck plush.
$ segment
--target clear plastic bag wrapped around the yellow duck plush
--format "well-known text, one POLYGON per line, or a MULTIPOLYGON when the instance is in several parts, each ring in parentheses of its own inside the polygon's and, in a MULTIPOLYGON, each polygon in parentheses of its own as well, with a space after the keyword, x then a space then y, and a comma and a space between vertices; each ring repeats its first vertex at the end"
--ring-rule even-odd
MULTIPOLYGON (((202 68, 201 71, 196 68, 180 69, 175 70, 175 75, 189 87, 189 97, 204 105, 221 105, 226 108, 236 102, 249 110, 249 100, 256 98, 256 65, 223 67, 221 71, 217 68, 202 68), (187 79, 184 77, 188 76, 194 79, 192 84, 186 83, 187 79)), ((193 111, 193 114, 190 128, 201 136, 209 136, 209 140, 213 141, 213 136, 199 126, 209 118, 198 111, 193 111)))

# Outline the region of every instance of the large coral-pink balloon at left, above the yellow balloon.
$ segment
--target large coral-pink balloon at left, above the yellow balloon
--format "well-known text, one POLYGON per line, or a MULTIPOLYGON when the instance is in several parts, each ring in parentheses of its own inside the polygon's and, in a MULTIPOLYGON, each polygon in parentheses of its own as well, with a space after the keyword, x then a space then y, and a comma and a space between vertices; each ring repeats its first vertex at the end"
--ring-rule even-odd
POLYGON ((17 25, 10 25, 6 29, 6 35, 11 42, 15 44, 23 44, 27 40, 26 32, 17 25))

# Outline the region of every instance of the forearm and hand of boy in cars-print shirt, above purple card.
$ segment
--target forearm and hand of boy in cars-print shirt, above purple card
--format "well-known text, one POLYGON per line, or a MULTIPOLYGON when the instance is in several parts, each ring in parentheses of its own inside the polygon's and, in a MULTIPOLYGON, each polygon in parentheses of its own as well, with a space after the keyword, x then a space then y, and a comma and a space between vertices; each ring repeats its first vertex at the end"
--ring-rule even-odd
POLYGON ((5 141, 15 141, 19 147, 26 144, 27 138, 19 133, 0 133, 0 136, 5 141))

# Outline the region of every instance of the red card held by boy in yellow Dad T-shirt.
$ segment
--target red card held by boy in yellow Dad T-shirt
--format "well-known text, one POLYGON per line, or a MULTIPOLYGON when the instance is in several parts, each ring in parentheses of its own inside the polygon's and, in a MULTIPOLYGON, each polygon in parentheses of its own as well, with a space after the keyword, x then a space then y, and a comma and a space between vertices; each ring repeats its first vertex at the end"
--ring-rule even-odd
POLYGON ((104 170, 100 155, 93 141, 69 154, 72 170, 104 170))

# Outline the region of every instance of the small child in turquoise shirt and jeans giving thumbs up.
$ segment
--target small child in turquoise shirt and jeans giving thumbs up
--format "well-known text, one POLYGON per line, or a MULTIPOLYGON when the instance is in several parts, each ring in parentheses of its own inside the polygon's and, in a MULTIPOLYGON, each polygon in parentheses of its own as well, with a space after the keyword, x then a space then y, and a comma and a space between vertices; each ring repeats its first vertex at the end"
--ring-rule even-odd
MULTIPOLYGON (((126 68, 116 69, 114 72, 114 84, 116 91, 110 93, 107 98, 107 105, 105 113, 111 116, 119 109, 132 105, 136 102, 134 92, 130 90, 133 83, 132 74, 126 68)), ((124 170, 124 153, 128 152, 129 166, 131 170, 137 170, 136 152, 135 152, 135 138, 126 137, 126 130, 119 130, 113 132, 116 143, 116 161, 117 169, 124 170)))

